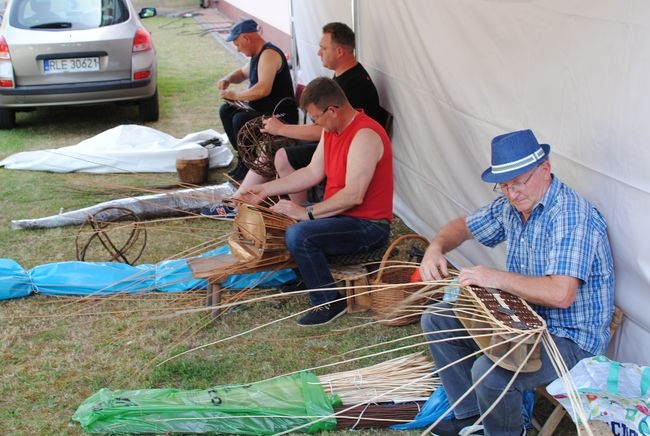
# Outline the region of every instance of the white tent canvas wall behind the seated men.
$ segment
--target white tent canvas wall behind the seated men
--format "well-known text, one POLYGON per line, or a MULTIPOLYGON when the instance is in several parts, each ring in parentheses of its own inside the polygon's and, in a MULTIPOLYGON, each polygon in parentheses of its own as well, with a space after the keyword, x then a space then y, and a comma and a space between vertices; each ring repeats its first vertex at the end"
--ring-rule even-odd
MULTIPOLYGON (((608 354, 650 364, 649 2, 309 0, 292 11, 302 83, 330 75, 315 55, 323 24, 357 32, 395 117, 396 212, 423 235, 493 198, 479 176, 494 136, 530 128, 550 144, 554 173, 608 221, 625 312, 608 354)), ((450 257, 504 265, 503 249, 476 243, 450 257)))

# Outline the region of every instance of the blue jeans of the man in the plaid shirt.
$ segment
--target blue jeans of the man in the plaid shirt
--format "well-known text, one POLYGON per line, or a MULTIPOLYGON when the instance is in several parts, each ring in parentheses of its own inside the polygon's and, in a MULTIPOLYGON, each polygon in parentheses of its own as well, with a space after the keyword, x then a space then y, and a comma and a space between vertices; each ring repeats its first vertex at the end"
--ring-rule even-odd
MULTIPOLYGON (((451 307, 449 303, 439 303, 431 306, 431 308, 437 310, 441 308, 451 310, 451 307)), ((451 312, 445 311, 443 313, 451 315, 451 312)), ((425 312, 422 315, 421 324, 427 341, 467 335, 460 321, 452 316, 440 316, 425 312), (461 329, 461 331, 445 332, 445 330, 450 329, 461 329), (437 331, 441 332, 436 333, 437 331)), ((553 336, 553 340, 568 368, 572 368, 581 359, 591 356, 590 353, 582 350, 570 339, 553 336)), ((546 385, 557 378, 545 348, 541 344, 540 346, 542 347, 541 369, 535 372, 519 373, 507 393, 499 401, 499 404, 483 420, 486 435, 519 436, 523 430, 521 415, 522 393, 526 390, 535 389, 537 386, 546 385)), ((479 347, 473 339, 452 339, 429 344, 429 350, 438 368, 455 362, 478 349, 479 347)), ((454 404, 469 390, 474 381, 490 371, 493 365, 494 363, 490 359, 481 355, 479 358, 470 357, 440 371, 440 379, 447 392, 449 404, 454 404)), ((456 406, 454 409, 456 418, 469 418, 489 409, 501 395, 503 388, 508 384, 512 375, 513 372, 498 366, 492 369, 481 384, 456 406)))

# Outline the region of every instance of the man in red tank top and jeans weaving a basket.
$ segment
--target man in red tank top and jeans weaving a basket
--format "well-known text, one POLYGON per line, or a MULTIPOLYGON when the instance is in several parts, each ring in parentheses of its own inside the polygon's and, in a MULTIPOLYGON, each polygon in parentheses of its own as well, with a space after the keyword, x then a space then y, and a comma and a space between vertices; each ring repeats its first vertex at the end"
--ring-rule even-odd
POLYGON ((287 229, 285 242, 305 285, 313 291, 314 308, 299 325, 321 325, 346 311, 345 300, 330 288, 334 279, 327 256, 354 254, 388 242, 393 219, 393 156, 386 131, 348 102, 332 79, 311 81, 300 106, 322 127, 320 141, 308 166, 251 186, 244 200, 284 195, 309 189, 326 179, 320 203, 302 205, 280 200, 272 209, 298 223, 287 229))

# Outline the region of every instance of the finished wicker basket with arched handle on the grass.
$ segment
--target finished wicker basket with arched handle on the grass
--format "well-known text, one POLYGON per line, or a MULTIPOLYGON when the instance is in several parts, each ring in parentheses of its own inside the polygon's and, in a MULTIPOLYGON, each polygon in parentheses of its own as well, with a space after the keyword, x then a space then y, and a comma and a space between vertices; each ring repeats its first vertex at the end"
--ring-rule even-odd
POLYGON ((414 248, 424 252, 429 245, 426 238, 408 234, 397 238, 386 250, 374 285, 399 285, 387 289, 377 289, 372 293, 373 318, 381 324, 391 326, 408 325, 420 319, 421 310, 417 307, 426 303, 425 299, 414 301, 408 306, 401 303, 422 287, 419 284, 409 284, 411 275, 419 267, 414 263, 414 248))

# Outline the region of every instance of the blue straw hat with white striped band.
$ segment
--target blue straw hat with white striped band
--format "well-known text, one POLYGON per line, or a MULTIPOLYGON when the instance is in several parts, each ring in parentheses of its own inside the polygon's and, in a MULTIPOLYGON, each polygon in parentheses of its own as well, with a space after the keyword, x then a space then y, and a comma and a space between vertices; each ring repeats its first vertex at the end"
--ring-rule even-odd
POLYGON ((489 183, 512 180, 548 159, 551 146, 540 144, 531 130, 499 135, 492 140, 492 166, 481 179, 489 183))

